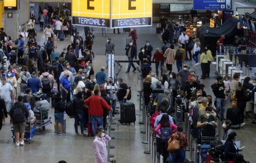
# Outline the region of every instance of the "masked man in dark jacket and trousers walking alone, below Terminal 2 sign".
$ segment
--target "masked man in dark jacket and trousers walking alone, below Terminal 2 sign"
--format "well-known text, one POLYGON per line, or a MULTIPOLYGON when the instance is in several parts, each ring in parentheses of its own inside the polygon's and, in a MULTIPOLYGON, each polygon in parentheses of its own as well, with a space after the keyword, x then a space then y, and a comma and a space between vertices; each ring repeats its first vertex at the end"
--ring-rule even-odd
POLYGON ((132 61, 133 61, 133 58, 135 58, 135 60, 137 60, 137 48, 133 45, 132 40, 129 41, 129 44, 126 45, 125 50, 126 50, 126 56, 128 57, 128 61, 129 61, 128 69, 127 69, 126 73, 130 72, 131 66, 133 68, 132 72, 134 72, 134 71, 136 71, 136 67, 132 63, 132 61))

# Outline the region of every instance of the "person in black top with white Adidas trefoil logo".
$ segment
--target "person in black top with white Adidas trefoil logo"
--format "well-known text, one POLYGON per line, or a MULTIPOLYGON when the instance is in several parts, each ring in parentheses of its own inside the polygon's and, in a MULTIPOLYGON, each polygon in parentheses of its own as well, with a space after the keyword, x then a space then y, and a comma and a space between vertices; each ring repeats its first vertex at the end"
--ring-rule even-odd
POLYGON ((191 81, 183 89, 186 101, 192 97, 192 93, 195 90, 200 90, 200 94, 202 95, 201 85, 197 82, 195 77, 191 77, 191 81))

